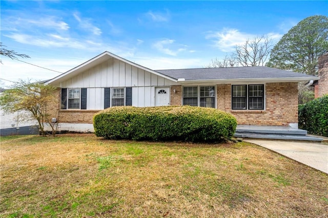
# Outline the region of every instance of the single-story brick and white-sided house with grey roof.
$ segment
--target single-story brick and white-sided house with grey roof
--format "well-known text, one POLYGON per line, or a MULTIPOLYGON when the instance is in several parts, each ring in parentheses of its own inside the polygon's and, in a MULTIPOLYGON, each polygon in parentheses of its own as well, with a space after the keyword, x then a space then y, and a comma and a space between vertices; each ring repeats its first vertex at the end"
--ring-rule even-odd
POLYGON ((151 70, 104 52, 47 84, 58 88, 59 130, 92 132, 96 112, 121 105, 214 107, 238 124, 297 127, 298 82, 318 79, 268 67, 151 70))

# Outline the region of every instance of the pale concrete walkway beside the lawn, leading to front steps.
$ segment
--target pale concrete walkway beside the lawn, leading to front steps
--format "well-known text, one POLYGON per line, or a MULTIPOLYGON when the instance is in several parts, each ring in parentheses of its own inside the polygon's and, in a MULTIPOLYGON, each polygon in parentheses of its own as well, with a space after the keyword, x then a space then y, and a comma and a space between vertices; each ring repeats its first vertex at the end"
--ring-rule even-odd
POLYGON ((328 174, 328 145, 315 142, 245 139, 328 174))

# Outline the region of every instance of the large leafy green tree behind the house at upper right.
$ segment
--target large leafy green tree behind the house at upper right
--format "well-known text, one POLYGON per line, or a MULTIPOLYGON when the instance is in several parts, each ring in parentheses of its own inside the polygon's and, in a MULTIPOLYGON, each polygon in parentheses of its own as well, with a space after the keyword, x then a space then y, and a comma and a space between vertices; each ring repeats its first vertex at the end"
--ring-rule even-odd
POLYGON ((272 49, 267 66, 317 75, 318 57, 327 51, 328 17, 311 16, 282 36, 272 49))

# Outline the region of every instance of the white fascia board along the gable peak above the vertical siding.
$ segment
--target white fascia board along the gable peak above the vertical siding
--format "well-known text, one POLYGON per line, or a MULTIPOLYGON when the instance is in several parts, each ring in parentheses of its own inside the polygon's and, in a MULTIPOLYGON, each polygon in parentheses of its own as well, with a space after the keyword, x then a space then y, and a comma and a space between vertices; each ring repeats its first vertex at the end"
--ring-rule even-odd
POLYGON ((123 62, 126 62, 128 64, 131 64, 132 66, 134 66, 136 68, 140 68, 142 70, 145 70, 145 71, 148 71, 150 73, 153 73, 153 74, 155 74, 157 76, 160 76, 160 77, 169 79, 171 81, 177 82, 177 80, 174 79, 174 78, 172 78, 172 77, 169 77, 169 76, 163 75, 163 74, 161 74, 159 72, 156 72, 156 71, 153 71, 151 69, 145 68, 145 67, 143 67, 143 66, 141 66, 139 64, 133 63, 133 62, 127 60, 127 59, 124 59, 122 57, 119 57, 117 55, 114 55, 114 54, 106 51, 106 52, 101 53, 98 56, 96 56, 96 57, 94 57, 94 58, 92 58, 92 59, 90 59, 90 60, 88 60, 88 61, 80 64, 79 66, 77 66, 77 67, 75 67, 75 68, 67 71, 66 73, 63 73, 63 74, 61 74, 59 76, 56 76, 53 79, 50 79, 48 82, 46 82, 46 84, 53 84, 53 83, 56 83, 56 82, 59 83, 61 81, 64 81, 66 78, 67 79, 68 78, 71 78, 71 77, 73 77, 73 76, 75 76, 75 75, 77 75, 77 74, 79 74, 79 73, 81 73, 81 72, 83 72, 83 71, 85 71, 85 70, 87 70, 89 68, 92 68, 92 67, 96 66, 97 64, 99 64, 101 62, 104 62, 105 60, 108 60, 109 57, 116 58, 116 59, 121 60, 123 62))

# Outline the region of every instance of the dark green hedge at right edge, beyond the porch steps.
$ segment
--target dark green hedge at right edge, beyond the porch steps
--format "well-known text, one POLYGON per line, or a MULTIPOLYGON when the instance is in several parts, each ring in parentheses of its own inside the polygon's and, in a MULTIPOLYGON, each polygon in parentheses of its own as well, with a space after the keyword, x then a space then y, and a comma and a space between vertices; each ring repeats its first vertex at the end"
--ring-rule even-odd
POLYGON ((328 95, 298 105, 298 126, 310 134, 328 137, 328 95))

